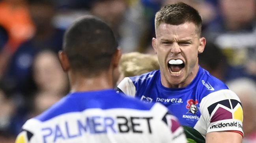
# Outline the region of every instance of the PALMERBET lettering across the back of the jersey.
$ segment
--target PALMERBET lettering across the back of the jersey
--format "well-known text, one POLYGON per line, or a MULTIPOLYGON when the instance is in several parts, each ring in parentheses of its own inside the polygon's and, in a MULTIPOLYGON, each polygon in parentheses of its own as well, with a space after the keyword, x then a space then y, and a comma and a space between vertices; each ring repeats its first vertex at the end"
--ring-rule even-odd
POLYGON ((86 119, 76 119, 65 121, 54 126, 44 127, 41 129, 44 143, 52 143, 65 139, 78 138, 84 134, 106 134, 111 132, 119 133, 136 133, 144 132, 152 134, 151 120, 152 116, 89 116, 86 119))

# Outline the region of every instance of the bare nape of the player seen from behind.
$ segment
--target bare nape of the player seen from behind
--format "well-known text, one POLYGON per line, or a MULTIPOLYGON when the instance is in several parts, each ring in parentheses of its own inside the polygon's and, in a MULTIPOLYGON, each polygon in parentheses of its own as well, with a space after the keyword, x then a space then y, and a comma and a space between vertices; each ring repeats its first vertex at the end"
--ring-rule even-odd
POLYGON ((113 89, 113 79, 109 72, 104 72, 99 76, 86 77, 79 73, 69 73, 70 92, 98 91, 103 89, 113 89))

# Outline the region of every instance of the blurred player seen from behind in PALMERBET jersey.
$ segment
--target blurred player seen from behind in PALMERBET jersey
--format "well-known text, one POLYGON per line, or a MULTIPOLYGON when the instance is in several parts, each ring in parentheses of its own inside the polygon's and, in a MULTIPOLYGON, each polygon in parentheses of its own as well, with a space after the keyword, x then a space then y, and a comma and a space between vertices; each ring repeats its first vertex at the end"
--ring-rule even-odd
POLYGON ((29 119, 16 143, 185 143, 183 129, 166 107, 113 89, 120 56, 107 24, 93 16, 78 19, 59 52, 71 91, 29 119))

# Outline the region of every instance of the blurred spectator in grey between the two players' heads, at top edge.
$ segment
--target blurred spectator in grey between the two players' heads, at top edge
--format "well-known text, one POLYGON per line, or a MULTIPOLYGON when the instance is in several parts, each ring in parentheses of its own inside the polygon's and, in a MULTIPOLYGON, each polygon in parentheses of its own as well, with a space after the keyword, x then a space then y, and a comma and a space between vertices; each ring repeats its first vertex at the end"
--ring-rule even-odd
POLYGON ((138 50, 147 27, 140 0, 94 0, 90 12, 112 27, 122 52, 138 50))

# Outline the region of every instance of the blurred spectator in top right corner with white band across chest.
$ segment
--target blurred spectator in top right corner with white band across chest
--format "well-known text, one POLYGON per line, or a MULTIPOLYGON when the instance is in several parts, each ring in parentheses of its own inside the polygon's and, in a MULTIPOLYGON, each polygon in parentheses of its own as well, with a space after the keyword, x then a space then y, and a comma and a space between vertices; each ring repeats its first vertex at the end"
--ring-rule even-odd
MULTIPOLYGON (((256 65, 256 1, 218 0, 220 16, 203 35, 224 51, 232 65, 256 65)), ((250 68, 252 66, 248 66, 250 68)), ((256 69, 249 70, 255 74, 256 69)), ((255 74, 256 75, 256 74, 255 74)))

